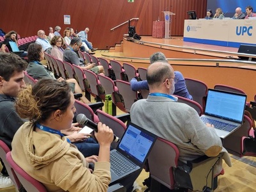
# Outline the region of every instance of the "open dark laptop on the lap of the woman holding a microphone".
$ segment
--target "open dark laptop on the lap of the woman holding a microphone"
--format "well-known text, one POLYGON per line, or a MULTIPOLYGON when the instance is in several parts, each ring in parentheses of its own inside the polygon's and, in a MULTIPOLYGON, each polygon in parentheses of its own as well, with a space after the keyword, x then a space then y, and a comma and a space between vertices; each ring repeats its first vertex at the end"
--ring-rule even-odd
POLYGON ((111 184, 142 170, 157 136, 129 123, 116 149, 110 152, 111 184))

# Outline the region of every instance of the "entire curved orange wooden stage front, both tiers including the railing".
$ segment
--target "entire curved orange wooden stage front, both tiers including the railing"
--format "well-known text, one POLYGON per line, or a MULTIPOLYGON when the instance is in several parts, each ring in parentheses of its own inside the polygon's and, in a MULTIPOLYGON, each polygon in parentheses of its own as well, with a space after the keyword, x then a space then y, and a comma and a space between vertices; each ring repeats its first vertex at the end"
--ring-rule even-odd
POLYGON ((147 68, 150 55, 157 51, 163 52, 173 68, 182 72, 184 77, 204 81, 208 88, 213 88, 215 84, 241 88, 248 95, 248 101, 254 100, 256 63, 238 60, 238 56, 256 55, 238 54, 234 47, 183 42, 179 36, 170 39, 141 36, 141 40, 124 36, 122 44, 102 52, 101 56, 120 63, 131 63, 136 68, 147 68))

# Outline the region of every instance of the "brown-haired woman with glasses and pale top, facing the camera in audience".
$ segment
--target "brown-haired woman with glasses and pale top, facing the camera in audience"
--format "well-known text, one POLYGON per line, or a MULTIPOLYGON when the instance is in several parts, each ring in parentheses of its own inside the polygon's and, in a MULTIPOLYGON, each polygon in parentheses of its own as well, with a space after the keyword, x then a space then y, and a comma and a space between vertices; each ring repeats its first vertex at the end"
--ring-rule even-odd
POLYGON ((63 44, 64 42, 61 36, 54 36, 51 40, 51 45, 52 45, 51 56, 61 61, 63 60, 63 52, 64 52, 64 49, 62 48, 63 44))

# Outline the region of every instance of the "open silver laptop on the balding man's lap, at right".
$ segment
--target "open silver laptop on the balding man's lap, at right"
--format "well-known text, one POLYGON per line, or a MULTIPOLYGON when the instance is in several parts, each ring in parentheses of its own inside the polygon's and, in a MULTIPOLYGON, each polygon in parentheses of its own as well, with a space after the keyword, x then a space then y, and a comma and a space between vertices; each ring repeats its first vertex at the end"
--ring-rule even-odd
POLYGON ((205 105, 205 115, 200 118, 213 124, 220 138, 226 138, 243 124, 246 95, 209 89, 205 105))

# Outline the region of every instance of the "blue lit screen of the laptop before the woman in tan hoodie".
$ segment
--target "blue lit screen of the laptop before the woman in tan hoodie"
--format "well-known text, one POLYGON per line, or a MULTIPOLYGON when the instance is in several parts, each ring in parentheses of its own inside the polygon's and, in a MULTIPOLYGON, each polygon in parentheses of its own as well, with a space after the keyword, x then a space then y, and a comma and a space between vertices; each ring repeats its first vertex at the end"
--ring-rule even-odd
POLYGON ((132 156, 140 163, 143 163, 148 150, 154 143, 154 138, 140 129, 132 126, 127 127, 127 132, 119 143, 119 148, 128 156, 132 156))

